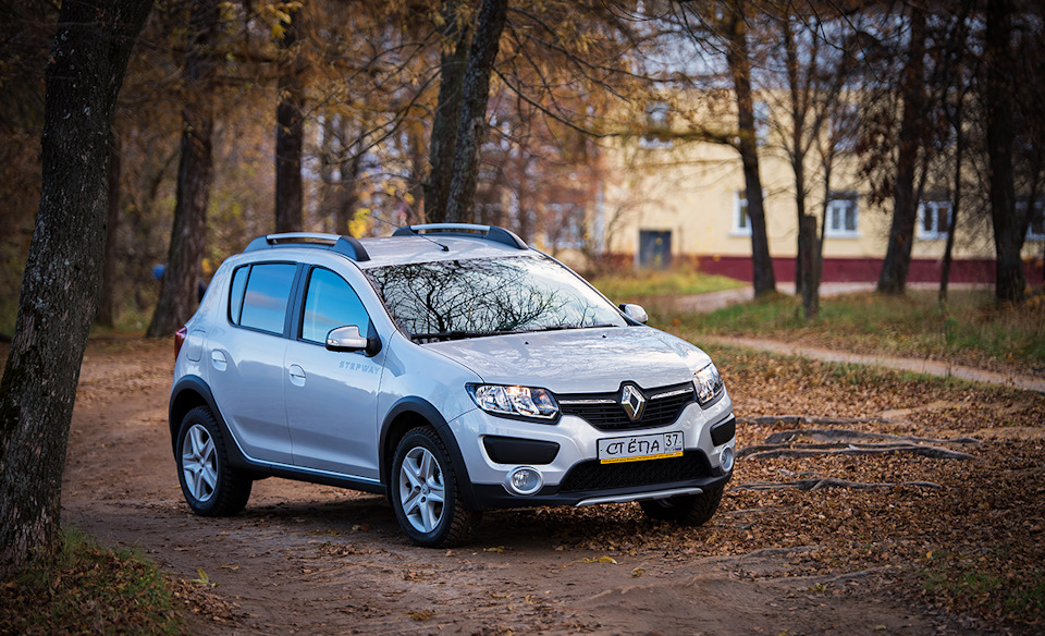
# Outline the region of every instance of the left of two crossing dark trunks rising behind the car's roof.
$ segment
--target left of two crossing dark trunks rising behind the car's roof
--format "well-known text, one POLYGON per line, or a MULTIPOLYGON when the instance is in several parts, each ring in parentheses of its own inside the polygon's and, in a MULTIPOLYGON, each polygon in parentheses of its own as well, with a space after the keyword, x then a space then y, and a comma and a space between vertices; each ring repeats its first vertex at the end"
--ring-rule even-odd
POLYGON ((435 120, 429 142, 431 172, 425 184, 425 218, 431 223, 446 219, 446 201, 453 180, 454 148, 457 145, 457 125, 460 115, 460 95, 468 63, 468 42, 471 28, 457 20, 457 8, 463 0, 444 0, 441 14, 445 22, 443 37, 453 41, 453 50, 443 49, 440 57, 439 98, 435 120))

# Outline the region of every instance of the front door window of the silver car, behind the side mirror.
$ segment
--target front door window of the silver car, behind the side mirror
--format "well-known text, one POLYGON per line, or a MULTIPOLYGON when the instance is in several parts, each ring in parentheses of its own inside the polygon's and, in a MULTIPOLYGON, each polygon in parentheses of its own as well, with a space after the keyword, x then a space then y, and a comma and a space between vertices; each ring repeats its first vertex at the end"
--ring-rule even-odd
POLYGON ((302 340, 325 342, 337 327, 356 326, 364 337, 370 330, 370 316, 345 279, 329 269, 315 268, 305 293, 302 340))

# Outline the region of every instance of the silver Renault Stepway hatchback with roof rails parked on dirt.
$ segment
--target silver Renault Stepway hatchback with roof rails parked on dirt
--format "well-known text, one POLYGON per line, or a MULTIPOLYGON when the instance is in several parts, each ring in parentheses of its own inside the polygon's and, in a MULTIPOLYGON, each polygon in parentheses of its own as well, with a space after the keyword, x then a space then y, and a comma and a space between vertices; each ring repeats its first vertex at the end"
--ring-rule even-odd
POLYGON ((381 493, 417 545, 483 510, 638 501, 699 525, 736 420, 700 348, 494 227, 272 234, 216 272, 175 337, 185 500, 236 514, 283 477, 381 493))

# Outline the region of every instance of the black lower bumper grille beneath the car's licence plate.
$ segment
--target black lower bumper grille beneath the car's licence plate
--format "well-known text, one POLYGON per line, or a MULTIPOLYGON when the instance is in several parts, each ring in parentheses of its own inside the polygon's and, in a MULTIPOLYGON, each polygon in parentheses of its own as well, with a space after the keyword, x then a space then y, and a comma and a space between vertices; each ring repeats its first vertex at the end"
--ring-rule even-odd
POLYGON ((600 464, 598 460, 574 466, 563 479, 560 492, 587 492, 632 486, 655 486, 711 476, 711 465, 700 451, 681 457, 600 464))

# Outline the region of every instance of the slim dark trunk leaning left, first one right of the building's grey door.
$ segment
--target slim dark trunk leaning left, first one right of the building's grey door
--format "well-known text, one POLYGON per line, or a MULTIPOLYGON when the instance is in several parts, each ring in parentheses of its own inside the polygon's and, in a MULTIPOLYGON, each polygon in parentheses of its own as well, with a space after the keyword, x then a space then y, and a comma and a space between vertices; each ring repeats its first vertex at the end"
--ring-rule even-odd
POLYGON ((751 260, 754 295, 776 291, 773 259, 765 231, 765 211, 762 205, 762 180, 759 175, 759 146, 754 127, 754 101, 751 95, 751 60, 748 53, 747 23, 742 15, 732 13, 726 22, 728 46, 726 61, 737 94, 737 115, 740 137, 740 162, 743 166, 745 189, 748 196, 748 219, 751 221, 751 260))

